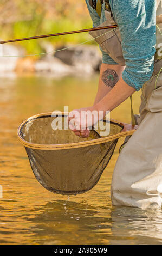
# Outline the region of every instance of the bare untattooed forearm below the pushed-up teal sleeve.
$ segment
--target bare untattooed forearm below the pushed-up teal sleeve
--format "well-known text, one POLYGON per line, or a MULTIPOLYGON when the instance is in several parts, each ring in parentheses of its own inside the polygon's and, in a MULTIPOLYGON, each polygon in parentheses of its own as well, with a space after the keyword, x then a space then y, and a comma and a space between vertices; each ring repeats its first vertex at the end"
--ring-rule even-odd
POLYGON ((112 111, 118 107, 123 101, 135 92, 135 89, 120 78, 118 83, 103 97, 96 105, 95 109, 103 111, 112 111))

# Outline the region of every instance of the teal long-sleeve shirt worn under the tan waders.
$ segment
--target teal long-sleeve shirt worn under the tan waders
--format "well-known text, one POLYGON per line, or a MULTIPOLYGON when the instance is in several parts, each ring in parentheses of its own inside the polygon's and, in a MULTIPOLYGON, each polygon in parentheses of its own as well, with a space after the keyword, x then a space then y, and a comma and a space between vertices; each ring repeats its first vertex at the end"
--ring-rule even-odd
MULTIPOLYGON (((109 3, 121 33, 122 52, 126 61, 122 78, 129 86, 139 90, 153 73, 156 51, 155 0, 109 0, 109 3)), ((86 0, 86 4, 94 27, 106 20, 105 4, 102 4, 101 18, 89 5, 89 0, 86 0)), ((104 51, 102 63, 118 64, 104 51)))

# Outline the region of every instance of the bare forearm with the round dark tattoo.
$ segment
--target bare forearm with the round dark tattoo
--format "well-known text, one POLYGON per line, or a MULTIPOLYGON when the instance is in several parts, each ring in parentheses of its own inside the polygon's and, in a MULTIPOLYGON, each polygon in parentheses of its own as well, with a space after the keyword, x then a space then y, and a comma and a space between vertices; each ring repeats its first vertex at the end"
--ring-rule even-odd
POLYGON ((125 69, 124 66, 120 65, 109 65, 102 63, 99 77, 99 88, 98 93, 94 101, 96 105, 108 92, 112 90, 118 80, 121 78, 122 71, 125 69), (108 79, 111 75, 111 79, 108 79), (112 77, 113 76, 113 77, 112 77), (113 80, 112 80, 113 78, 113 80))

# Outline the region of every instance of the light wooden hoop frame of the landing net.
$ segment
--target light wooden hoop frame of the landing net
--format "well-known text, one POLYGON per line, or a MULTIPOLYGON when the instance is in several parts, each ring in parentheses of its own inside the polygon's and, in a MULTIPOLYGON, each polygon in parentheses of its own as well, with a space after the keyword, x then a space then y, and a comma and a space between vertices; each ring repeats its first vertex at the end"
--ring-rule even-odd
POLYGON ((107 136, 105 138, 99 138, 99 139, 93 139, 90 141, 83 141, 83 142, 75 142, 75 143, 67 143, 67 144, 35 144, 35 143, 31 143, 31 142, 27 142, 25 141, 22 137, 21 137, 21 129, 22 127, 29 121, 32 119, 37 119, 40 117, 46 117, 46 116, 55 116, 55 115, 68 115, 69 113, 67 112, 56 112, 56 113, 42 113, 42 114, 37 114, 37 115, 33 115, 33 117, 28 118, 27 120, 24 120, 20 126, 18 127, 17 130, 17 136, 18 139, 20 140, 20 142, 24 145, 24 147, 28 147, 31 149, 40 149, 40 150, 61 150, 61 149, 74 149, 74 148, 81 148, 81 147, 87 147, 90 145, 96 145, 96 144, 101 144, 101 143, 105 143, 105 142, 109 142, 109 141, 113 141, 114 139, 118 139, 121 137, 126 137, 129 135, 133 135, 133 133, 138 129, 138 125, 132 125, 132 124, 126 124, 126 123, 122 123, 119 121, 116 121, 114 119, 107 119, 108 121, 112 121, 113 123, 116 123, 118 125, 120 125, 121 127, 123 127, 123 129, 119 132, 116 133, 115 135, 112 136, 107 136))

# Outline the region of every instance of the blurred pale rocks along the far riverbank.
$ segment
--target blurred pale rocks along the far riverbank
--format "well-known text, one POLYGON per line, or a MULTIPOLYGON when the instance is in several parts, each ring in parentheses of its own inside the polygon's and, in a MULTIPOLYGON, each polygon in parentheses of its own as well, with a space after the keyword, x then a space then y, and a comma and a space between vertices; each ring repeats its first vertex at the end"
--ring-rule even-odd
POLYGON ((54 48, 49 42, 43 45, 40 55, 25 56, 23 48, 11 44, 2 45, 0 76, 36 73, 41 75, 92 75, 99 71, 102 62, 95 45, 62 45, 54 48), (65 50, 62 50, 65 49, 65 50))

